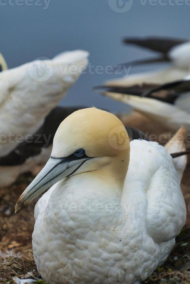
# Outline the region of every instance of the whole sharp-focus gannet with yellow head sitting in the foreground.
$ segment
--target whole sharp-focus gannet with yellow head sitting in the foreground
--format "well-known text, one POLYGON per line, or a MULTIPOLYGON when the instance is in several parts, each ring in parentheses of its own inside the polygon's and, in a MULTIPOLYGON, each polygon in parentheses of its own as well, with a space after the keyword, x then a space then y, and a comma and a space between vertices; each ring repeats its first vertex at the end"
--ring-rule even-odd
MULTIPOLYGON (((181 147, 174 139, 172 151, 181 147)), ((177 173, 168 150, 130 143, 122 122, 96 108, 60 124, 49 161, 15 206, 16 212, 52 186, 42 196, 43 212, 41 199, 35 207, 32 234, 46 283, 118 283, 124 270, 120 280, 132 284, 164 263, 186 220, 180 188, 186 159, 177 173)))

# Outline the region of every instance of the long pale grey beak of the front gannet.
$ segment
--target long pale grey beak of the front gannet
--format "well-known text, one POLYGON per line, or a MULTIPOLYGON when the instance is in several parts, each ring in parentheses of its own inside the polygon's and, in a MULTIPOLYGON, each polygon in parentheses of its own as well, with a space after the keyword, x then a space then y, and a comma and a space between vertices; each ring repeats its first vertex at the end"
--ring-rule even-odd
POLYGON ((15 213, 50 186, 72 175, 88 159, 91 158, 70 160, 67 157, 60 159, 50 157, 45 167, 19 197, 15 205, 15 213))

